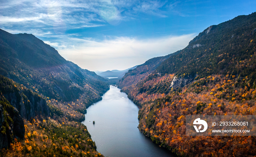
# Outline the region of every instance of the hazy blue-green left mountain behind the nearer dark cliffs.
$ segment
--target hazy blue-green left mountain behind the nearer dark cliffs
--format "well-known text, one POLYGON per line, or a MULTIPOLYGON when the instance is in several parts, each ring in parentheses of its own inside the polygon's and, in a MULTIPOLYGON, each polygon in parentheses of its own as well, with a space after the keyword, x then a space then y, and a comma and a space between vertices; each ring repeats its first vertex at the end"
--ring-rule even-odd
POLYGON ((91 103, 109 89, 103 78, 65 60, 32 34, 0 30, 0 56, 1 75, 52 99, 71 102, 86 93, 91 103))

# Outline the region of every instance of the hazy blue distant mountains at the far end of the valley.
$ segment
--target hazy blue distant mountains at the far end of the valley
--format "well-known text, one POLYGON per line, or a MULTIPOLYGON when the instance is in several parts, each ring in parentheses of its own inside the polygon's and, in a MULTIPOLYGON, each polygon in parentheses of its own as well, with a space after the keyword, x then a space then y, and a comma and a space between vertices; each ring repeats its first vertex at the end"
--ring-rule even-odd
POLYGON ((95 71, 95 73, 99 76, 102 76, 104 78, 113 78, 117 77, 121 79, 125 73, 127 73, 129 70, 135 69, 137 66, 125 69, 125 70, 108 70, 108 71, 95 71))

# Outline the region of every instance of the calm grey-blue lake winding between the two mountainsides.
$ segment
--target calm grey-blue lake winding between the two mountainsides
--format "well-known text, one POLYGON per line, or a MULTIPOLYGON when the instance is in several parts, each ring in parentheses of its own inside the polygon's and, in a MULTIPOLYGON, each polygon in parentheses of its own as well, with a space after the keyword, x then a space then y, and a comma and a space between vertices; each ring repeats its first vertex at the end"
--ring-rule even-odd
POLYGON ((110 86, 102 100, 87 109, 82 123, 87 126, 97 151, 104 156, 174 157, 139 131, 138 111, 125 93, 110 86))

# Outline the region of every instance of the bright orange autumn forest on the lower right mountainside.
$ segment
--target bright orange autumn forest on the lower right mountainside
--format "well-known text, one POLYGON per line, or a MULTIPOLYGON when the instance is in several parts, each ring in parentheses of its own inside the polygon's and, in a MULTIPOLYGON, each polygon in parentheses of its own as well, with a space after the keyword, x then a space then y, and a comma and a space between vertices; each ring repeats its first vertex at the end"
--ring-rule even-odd
MULTIPOLYGON (((144 82, 143 86, 153 90, 156 89, 154 86, 161 82, 166 84, 172 78, 173 74, 164 75, 144 82)), ((254 136, 185 135, 185 115, 255 115, 256 90, 249 88, 246 77, 211 75, 180 90, 172 89, 168 94, 156 90, 151 91, 152 94, 147 93, 148 90, 140 92, 143 86, 131 87, 129 95, 142 106, 139 110, 139 129, 157 144, 181 156, 256 154, 254 136)))

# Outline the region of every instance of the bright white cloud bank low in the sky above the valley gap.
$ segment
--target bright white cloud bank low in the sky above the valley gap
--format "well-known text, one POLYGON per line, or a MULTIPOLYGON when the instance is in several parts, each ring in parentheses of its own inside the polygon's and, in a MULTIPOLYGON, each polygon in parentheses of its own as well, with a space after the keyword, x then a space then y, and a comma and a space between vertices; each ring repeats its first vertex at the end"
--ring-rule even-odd
POLYGON ((102 42, 73 38, 72 40, 80 41, 80 44, 57 50, 65 59, 91 71, 116 68, 124 70, 143 64, 150 58, 181 50, 188 45, 194 36, 195 34, 188 34, 147 40, 118 37, 102 42))

